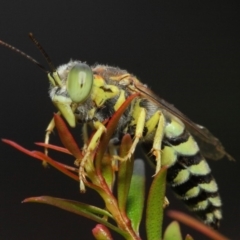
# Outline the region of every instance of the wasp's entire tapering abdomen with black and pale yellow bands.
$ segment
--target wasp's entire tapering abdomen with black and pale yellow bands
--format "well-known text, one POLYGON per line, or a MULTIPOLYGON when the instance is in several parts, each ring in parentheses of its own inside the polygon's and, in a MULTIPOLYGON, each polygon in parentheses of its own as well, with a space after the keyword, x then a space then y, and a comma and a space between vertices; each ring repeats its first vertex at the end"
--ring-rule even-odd
POLYGON ((217 228, 222 218, 217 183, 197 143, 178 119, 167 123, 162 166, 168 166, 167 181, 177 196, 207 225, 217 228))

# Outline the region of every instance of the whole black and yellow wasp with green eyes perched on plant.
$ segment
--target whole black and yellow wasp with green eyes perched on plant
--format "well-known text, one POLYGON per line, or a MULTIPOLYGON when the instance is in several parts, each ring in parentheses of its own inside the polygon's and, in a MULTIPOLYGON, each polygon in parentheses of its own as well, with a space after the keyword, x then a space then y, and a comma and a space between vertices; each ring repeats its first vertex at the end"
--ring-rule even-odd
MULTIPOLYGON (((84 148, 83 159, 77 163, 80 189, 84 191, 84 165, 106 131, 103 122, 111 118, 128 96, 137 93, 138 97, 122 114, 112 136, 116 146, 125 134, 131 135, 133 143, 125 157, 116 155, 113 158, 126 161, 135 152, 137 144, 141 144, 155 163, 156 173, 162 166, 167 166, 167 182, 175 194, 205 224, 217 228, 222 219, 222 203, 205 158, 216 160, 226 156, 232 159, 221 142, 126 70, 107 65, 89 66, 81 61, 70 61, 55 68, 32 34, 30 38, 45 56, 51 72, 19 49, 3 41, 0 44, 20 53, 47 72, 50 98, 71 127, 80 122, 95 130, 84 148)), ((53 128, 54 121, 51 121, 45 142, 49 141, 53 128)))

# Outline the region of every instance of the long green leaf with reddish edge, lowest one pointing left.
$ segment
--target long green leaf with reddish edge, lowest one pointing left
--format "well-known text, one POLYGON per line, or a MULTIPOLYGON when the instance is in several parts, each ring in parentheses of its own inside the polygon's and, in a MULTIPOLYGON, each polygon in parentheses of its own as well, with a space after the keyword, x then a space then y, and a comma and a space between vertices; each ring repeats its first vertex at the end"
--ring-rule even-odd
POLYGON ((83 217, 94 220, 98 223, 101 223, 107 226, 108 228, 118 232, 119 234, 125 236, 125 233, 121 229, 117 228, 116 226, 107 222, 105 219, 98 216, 98 215, 105 215, 109 217, 111 216, 107 211, 103 209, 90 206, 81 202, 76 202, 76 201, 71 201, 71 200, 61 199, 61 198, 54 198, 49 196, 27 198, 23 201, 23 203, 26 203, 26 202, 44 203, 44 204, 49 204, 49 205, 61 208, 63 210, 81 215, 83 217))

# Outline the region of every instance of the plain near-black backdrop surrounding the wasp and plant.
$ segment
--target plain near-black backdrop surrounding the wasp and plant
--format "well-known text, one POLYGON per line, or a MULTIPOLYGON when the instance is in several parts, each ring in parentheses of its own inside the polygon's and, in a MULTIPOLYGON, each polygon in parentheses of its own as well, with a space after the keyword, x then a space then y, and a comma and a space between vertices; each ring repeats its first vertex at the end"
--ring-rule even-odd
MULTIPOLYGON (((220 231, 240 239, 239 7, 237 1, 3 0, 0 39, 45 64, 27 37, 32 31, 55 65, 73 58, 127 69, 211 129, 237 160, 209 162, 224 204, 220 231)), ((55 111, 47 77, 3 47, 0 76, 0 137, 36 149, 33 143, 43 140, 55 111)), ((0 239, 87 239, 94 222, 21 201, 51 195, 98 204, 98 196, 90 190, 80 195, 78 184, 55 169, 3 143, 0 148, 0 239)), ((185 211, 171 195, 170 200, 169 209, 185 211)), ((189 228, 183 232, 204 239, 189 228)))

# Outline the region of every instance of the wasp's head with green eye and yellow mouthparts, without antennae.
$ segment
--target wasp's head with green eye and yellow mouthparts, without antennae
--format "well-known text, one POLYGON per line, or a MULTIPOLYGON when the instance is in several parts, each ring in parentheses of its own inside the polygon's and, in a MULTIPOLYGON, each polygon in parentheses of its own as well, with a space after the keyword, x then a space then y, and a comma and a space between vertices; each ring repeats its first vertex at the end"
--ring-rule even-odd
POLYGON ((70 61, 48 74, 50 97, 71 127, 75 127, 74 111, 90 96, 93 86, 91 67, 80 61, 70 61))

